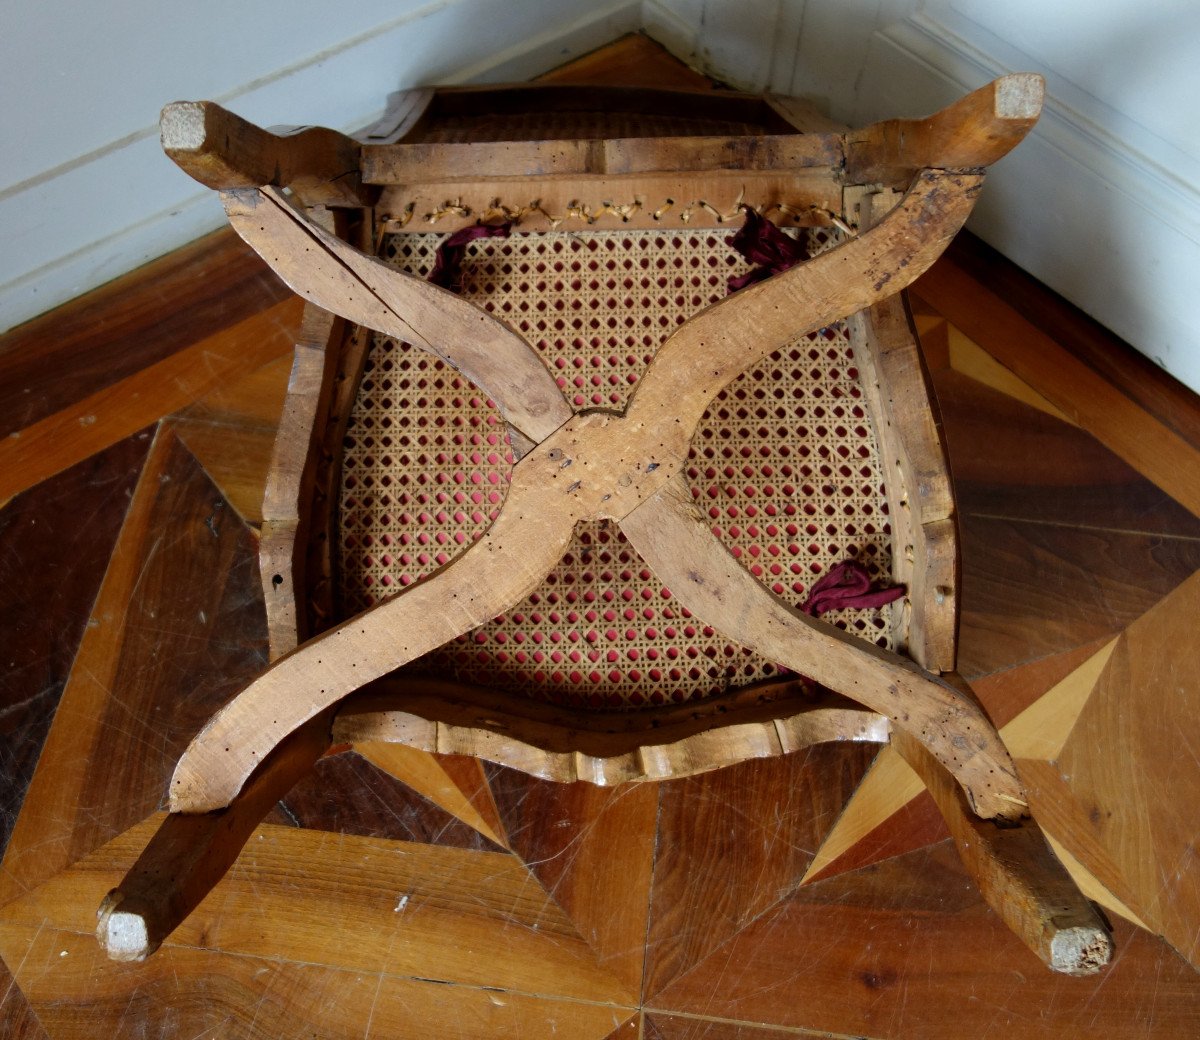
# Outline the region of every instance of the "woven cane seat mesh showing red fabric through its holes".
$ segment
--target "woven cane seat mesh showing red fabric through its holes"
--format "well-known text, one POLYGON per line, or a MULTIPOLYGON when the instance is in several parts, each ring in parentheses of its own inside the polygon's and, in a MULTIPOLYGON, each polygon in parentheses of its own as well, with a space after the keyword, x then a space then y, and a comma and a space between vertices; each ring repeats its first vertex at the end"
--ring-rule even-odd
MULTIPOLYGON (((805 234, 814 252, 833 245, 824 229, 805 234)), ((443 238, 390 235, 382 256, 425 276, 443 238)), ((462 295, 535 344, 576 410, 623 408, 661 342, 748 270, 728 238, 696 229, 485 239, 468 248, 462 295)), ((343 614, 479 537, 511 467, 504 422, 478 389, 377 335, 343 457, 343 614)), ((775 351, 722 391, 686 473, 714 533, 790 602, 847 558, 875 578, 890 573, 882 467, 841 325, 775 351)), ((890 645, 890 609, 824 617, 890 645)), ((679 703, 787 674, 680 608, 608 522, 581 524, 526 602, 412 667, 587 708, 679 703)))

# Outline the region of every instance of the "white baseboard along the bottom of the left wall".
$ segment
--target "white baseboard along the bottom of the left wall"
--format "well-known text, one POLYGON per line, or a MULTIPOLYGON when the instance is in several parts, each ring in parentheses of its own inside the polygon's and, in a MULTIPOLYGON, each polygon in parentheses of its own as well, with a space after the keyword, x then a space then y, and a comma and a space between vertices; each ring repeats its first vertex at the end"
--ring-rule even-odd
MULTIPOLYGON (((641 0, 427 4, 212 100, 260 125, 353 131, 424 83, 522 80, 642 25, 641 0)), ((96 88, 102 92, 102 85, 96 88)), ((152 108, 174 101, 155 98, 152 108)), ((224 222, 211 192, 145 126, 0 191, 0 331, 161 257, 224 222)))

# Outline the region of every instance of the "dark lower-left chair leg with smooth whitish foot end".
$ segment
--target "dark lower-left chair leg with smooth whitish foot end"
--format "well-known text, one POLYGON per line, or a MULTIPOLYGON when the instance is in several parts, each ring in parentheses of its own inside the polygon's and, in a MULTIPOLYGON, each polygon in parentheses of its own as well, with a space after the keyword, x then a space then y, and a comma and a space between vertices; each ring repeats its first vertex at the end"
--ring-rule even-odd
POLYGON ((220 812, 162 822, 121 884, 96 912, 96 938, 114 961, 144 961, 199 906, 281 798, 329 749, 331 714, 281 744, 220 812))

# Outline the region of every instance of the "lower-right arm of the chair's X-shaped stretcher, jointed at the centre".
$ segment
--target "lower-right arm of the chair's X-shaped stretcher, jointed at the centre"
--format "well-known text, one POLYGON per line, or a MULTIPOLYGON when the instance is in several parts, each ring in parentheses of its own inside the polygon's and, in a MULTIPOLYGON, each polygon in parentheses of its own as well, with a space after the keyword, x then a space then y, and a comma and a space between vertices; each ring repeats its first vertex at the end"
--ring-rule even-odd
POLYGON ((715 539, 676 479, 620 522, 683 606, 730 638, 886 715, 954 776, 972 810, 1015 819, 1021 783, 974 701, 896 654, 809 618, 763 588, 715 539))

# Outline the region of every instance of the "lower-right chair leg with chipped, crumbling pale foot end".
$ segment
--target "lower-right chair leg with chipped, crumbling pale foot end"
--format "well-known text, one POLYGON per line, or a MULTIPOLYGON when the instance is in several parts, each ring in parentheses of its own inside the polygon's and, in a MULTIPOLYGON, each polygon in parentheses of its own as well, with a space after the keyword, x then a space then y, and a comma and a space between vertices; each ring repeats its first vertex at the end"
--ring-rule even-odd
POLYGON ((1093 975, 1108 964, 1109 931, 1038 825, 1028 818, 1009 826, 980 820, 919 741, 896 732, 893 744, 934 795, 988 904, 1043 963, 1064 975, 1093 975))

